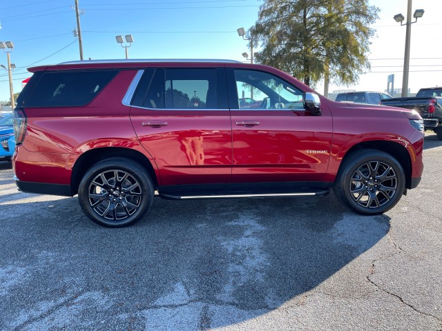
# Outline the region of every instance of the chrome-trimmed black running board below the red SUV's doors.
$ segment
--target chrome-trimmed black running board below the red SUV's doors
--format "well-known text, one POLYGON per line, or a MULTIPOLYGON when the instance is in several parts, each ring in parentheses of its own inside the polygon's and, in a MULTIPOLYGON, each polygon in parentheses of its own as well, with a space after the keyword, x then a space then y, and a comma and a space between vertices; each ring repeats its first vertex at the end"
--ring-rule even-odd
POLYGON ((229 198, 265 198, 265 197, 309 197, 329 194, 329 189, 320 190, 294 190, 292 192, 218 192, 208 194, 208 192, 168 192, 166 194, 158 193, 159 197, 164 199, 185 200, 185 199, 229 199, 229 198))

